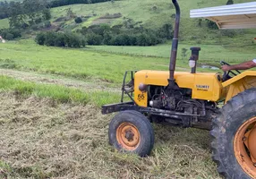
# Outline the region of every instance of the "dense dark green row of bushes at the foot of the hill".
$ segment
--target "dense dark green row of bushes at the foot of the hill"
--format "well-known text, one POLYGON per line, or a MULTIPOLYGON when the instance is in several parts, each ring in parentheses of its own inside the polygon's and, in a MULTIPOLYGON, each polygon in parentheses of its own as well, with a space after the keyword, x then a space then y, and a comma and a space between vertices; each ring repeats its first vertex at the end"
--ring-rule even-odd
POLYGON ((154 46, 173 38, 173 26, 164 24, 158 30, 142 27, 126 29, 123 25, 110 27, 107 24, 83 27, 76 33, 43 32, 39 33, 38 45, 55 47, 84 47, 88 45, 108 46, 154 46))

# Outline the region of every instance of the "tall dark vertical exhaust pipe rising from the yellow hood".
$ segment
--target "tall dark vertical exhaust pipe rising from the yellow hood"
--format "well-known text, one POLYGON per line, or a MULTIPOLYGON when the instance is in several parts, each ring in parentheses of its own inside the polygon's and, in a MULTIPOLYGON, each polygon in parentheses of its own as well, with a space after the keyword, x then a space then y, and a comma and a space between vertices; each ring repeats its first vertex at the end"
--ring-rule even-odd
POLYGON ((172 52, 170 57, 170 66, 169 66, 169 87, 173 88, 175 86, 175 65, 176 65, 176 56, 177 56, 177 50, 178 50, 178 43, 179 43, 179 29, 180 29, 180 17, 181 17, 181 11, 180 6, 177 2, 177 0, 173 0, 173 4, 175 5, 176 10, 176 17, 175 17, 175 34, 173 38, 173 44, 172 44, 172 52))

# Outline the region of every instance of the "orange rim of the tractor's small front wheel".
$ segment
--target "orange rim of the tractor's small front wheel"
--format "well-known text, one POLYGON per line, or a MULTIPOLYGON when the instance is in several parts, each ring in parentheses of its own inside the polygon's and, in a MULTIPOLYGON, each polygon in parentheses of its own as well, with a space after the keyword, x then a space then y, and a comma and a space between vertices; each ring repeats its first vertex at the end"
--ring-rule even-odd
POLYGON ((137 127, 131 123, 120 124, 116 130, 116 139, 126 150, 137 149, 141 141, 141 135, 137 127))

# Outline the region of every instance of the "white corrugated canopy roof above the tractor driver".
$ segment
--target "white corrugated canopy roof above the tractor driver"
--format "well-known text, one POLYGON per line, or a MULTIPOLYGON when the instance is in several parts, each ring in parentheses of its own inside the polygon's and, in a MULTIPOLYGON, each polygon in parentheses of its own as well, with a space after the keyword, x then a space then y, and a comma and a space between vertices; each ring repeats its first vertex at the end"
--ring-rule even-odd
POLYGON ((256 2, 195 9, 191 18, 215 21, 222 30, 256 28, 256 2))

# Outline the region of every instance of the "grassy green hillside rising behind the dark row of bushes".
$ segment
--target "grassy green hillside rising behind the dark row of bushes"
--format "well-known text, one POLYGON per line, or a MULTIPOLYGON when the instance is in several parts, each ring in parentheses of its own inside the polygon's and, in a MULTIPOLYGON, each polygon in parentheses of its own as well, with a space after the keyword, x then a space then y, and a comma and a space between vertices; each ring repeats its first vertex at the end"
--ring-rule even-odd
MULTIPOLYGON (((252 2, 252 0, 236 0, 235 3, 252 2)), ((181 40, 199 42, 199 43, 230 43, 230 38, 223 36, 219 30, 209 30, 206 21, 202 21, 199 25, 199 19, 190 18, 190 10, 217 6, 226 4, 224 0, 207 1, 180 0, 179 4, 182 11, 181 20, 181 40)), ((124 21, 132 20, 134 24, 143 25, 143 27, 156 29, 165 23, 175 21, 175 8, 171 1, 166 0, 122 0, 115 3, 107 2, 100 4, 74 4, 57 7, 52 10, 53 21, 60 17, 65 17, 67 9, 71 8, 73 13, 78 16, 90 17, 80 25, 76 25, 74 21, 64 21, 65 27, 76 30, 82 26, 90 26, 91 24, 109 23, 111 25, 123 24, 124 21), (121 17, 108 19, 106 14, 121 13, 121 17), (93 15, 92 15, 93 14, 93 15)), ((236 30, 236 37, 232 43, 251 43, 256 30, 236 30)))

